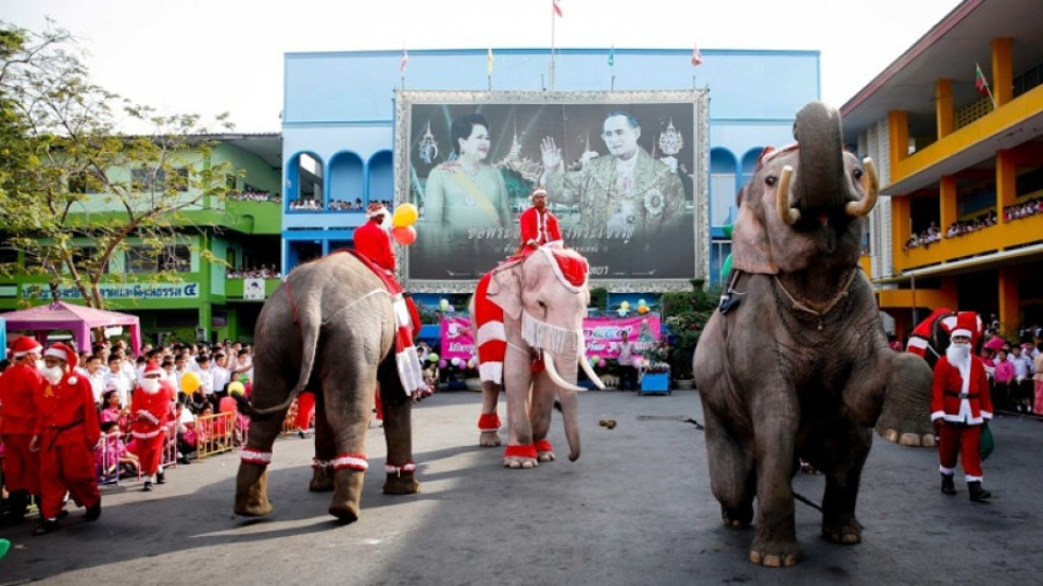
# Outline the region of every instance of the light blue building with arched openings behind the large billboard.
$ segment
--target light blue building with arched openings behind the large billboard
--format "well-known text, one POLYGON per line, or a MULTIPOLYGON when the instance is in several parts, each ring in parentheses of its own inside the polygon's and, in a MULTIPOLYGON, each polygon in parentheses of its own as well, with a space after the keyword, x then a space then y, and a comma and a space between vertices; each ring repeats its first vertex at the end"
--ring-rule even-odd
MULTIPOLYGON (((792 142, 796 111, 819 98, 818 51, 707 50, 692 66, 681 49, 485 49, 288 53, 282 113, 282 267, 350 245, 370 201, 395 193, 397 90, 649 92, 705 90, 708 238, 696 242, 718 279, 730 244, 722 226, 767 145, 792 142), (491 72, 491 73, 490 73, 491 72)), ((506 131, 506 129, 504 129, 506 131)), ((401 156, 401 155, 400 155, 401 156)), ((401 163, 401 162, 399 162, 401 163)), ((596 285, 596 281, 594 281, 596 285)), ((640 283, 624 288, 640 292, 640 283)), ((611 291, 613 291, 611 289, 611 291)))

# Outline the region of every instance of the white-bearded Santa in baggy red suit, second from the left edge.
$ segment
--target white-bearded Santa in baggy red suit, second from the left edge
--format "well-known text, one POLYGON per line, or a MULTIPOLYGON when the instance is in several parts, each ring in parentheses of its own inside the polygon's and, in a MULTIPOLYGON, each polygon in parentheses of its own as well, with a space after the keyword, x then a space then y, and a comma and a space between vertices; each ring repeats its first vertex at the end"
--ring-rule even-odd
POLYGON ((45 384, 36 395, 40 416, 29 442, 30 449, 40 450, 42 523, 34 535, 59 528, 66 492, 87 509, 87 521, 101 517, 93 455, 101 425, 90 382, 75 368, 76 351, 65 344, 52 344, 43 353, 45 384))

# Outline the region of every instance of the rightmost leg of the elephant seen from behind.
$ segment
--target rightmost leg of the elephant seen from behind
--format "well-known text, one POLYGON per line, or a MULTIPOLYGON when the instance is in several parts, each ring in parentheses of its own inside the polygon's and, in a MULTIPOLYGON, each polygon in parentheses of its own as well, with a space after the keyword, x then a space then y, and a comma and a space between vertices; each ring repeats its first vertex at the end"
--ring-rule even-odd
POLYGON ((413 495, 420 492, 413 461, 413 402, 405 396, 395 373, 385 378, 381 371, 380 400, 384 403, 384 437, 388 459, 385 464, 384 494, 413 495))

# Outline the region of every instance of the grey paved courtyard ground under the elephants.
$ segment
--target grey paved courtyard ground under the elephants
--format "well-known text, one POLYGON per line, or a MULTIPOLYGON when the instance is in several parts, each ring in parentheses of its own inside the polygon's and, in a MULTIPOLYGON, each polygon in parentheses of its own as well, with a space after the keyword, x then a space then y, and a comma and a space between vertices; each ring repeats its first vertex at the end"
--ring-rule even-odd
MULTIPOLYGON (((818 537, 819 513, 797 504, 804 559, 792 569, 746 561, 752 530, 720 524, 709 492, 699 395, 589 392, 580 398, 582 457, 531 471, 502 468, 501 448, 478 447, 480 395, 440 393, 414 411, 423 493, 380 494, 384 434, 370 430, 362 518, 341 526, 328 494, 306 489, 311 441, 281 438, 271 467, 266 520, 231 514, 238 456, 103 488, 104 512, 74 511, 63 530, 29 537, 2 528, 13 549, 0 585, 47 584, 1026 584, 1043 575, 1043 422, 993 423, 985 462, 990 505, 938 491, 933 449, 879 437, 863 479, 864 542, 818 537), (613 418, 613 430, 599 426, 613 418)), ((504 405, 501 403, 501 416, 504 405)), ((551 441, 565 453, 561 419, 551 441)), ((818 500, 821 476, 799 475, 818 500)))

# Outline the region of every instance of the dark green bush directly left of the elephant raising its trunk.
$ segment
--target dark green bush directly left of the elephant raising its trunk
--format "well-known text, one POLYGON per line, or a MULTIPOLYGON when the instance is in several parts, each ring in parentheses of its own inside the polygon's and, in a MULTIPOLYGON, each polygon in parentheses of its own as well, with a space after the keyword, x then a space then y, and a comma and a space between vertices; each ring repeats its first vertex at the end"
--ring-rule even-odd
POLYGON ((663 320, 673 333, 673 343, 666 351, 666 361, 675 379, 692 378, 692 354, 699 336, 717 307, 718 288, 704 289, 703 279, 692 279, 692 291, 664 293, 663 320))

